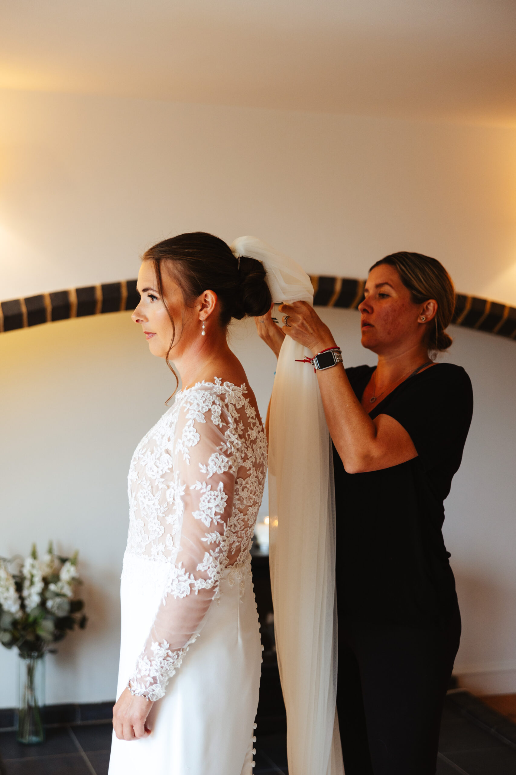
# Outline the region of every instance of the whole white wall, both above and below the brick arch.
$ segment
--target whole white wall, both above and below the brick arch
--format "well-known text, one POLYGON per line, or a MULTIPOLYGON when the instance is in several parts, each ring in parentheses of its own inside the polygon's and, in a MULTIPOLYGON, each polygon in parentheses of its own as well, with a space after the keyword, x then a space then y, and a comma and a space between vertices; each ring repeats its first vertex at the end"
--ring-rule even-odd
MULTIPOLYGON (((508 129, 5 91, 0 299, 135 277, 145 246, 205 229, 256 234, 311 272, 350 277, 420 250, 460 291, 516 304, 515 167, 508 129)), ((356 313, 323 316, 347 363, 371 362, 356 313)), ((265 411, 274 363, 248 326, 234 347, 265 411)), ((516 345, 455 334, 452 360, 476 391, 445 529, 463 609, 457 671, 477 691, 516 691, 516 345)), ((0 369, 0 554, 53 538, 80 549, 86 581, 91 622, 50 656, 48 701, 112 698, 125 476, 169 372, 124 313, 2 334, 0 369)), ((14 663, 0 649, 4 706, 14 663)))

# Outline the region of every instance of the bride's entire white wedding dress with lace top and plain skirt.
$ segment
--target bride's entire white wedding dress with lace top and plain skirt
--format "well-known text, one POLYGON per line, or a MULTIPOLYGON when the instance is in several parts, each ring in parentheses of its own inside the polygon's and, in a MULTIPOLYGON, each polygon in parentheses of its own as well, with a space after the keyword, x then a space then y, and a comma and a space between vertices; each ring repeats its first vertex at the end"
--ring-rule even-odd
POLYGON ((117 698, 152 734, 113 736, 109 775, 251 775, 261 643, 249 549, 267 441, 246 387, 198 383, 138 444, 128 476, 117 698), (168 684, 168 686, 167 686, 168 684))

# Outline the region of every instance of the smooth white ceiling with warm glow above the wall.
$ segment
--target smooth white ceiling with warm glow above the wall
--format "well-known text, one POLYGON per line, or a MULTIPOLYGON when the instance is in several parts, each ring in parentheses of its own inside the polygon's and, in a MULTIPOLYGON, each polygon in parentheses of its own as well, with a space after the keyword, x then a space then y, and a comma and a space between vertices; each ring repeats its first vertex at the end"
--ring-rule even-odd
POLYGON ((4 0, 0 88, 516 122, 516 0, 4 0))

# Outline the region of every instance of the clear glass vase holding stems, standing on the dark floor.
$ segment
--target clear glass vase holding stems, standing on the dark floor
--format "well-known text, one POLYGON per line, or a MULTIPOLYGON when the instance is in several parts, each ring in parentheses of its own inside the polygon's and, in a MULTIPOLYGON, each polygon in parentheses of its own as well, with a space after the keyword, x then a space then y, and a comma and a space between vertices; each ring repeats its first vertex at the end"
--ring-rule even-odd
POLYGON ((40 652, 19 655, 19 706, 16 739, 26 746, 44 742, 45 655, 40 652))

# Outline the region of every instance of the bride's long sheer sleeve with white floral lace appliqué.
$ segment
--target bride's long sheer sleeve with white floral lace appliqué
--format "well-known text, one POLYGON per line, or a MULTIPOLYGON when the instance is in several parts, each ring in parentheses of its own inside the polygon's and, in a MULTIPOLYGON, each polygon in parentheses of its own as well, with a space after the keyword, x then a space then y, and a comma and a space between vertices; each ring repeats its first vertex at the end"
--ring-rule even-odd
POLYGON ((166 547, 169 570, 151 632, 128 681, 132 694, 149 700, 165 694, 169 678, 200 634, 224 570, 235 559, 227 530, 239 465, 231 408, 209 391, 192 391, 182 401, 169 442, 173 465, 167 467, 168 480, 161 480, 166 513, 160 506, 156 515, 164 527, 160 546, 166 547))

